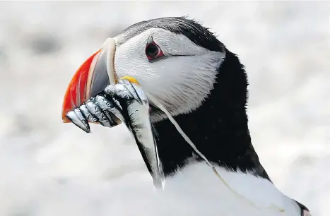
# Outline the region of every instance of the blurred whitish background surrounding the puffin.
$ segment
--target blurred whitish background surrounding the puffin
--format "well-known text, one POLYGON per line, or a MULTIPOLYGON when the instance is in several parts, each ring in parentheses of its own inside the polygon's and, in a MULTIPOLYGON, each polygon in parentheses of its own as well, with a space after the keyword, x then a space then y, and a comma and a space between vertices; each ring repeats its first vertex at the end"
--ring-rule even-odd
POLYGON ((86 1, 0 3, 1 216, 119 215, 119 198, 151 186, 124 126, 86 134, 61 122, 61 102, 107 37, 183 15, 246 66, 252 142, 276 186, 330 215, 329 3, 86 1))

